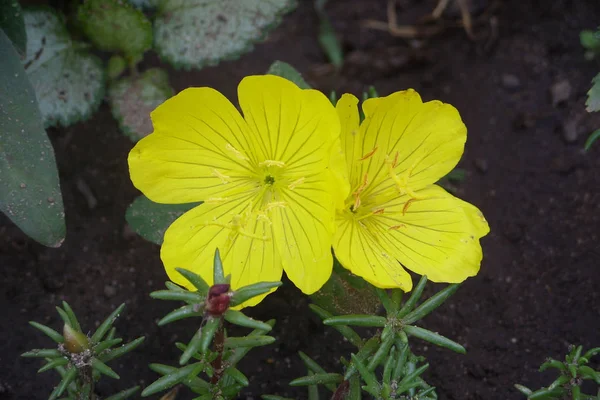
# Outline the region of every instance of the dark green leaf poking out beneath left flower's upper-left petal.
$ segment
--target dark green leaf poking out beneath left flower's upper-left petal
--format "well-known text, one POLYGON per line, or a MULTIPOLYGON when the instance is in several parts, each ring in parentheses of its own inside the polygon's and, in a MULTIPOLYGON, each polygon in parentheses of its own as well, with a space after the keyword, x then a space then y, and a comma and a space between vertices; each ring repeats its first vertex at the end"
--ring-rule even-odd
POLYGON ((141 195, 127 209, 125 219, 144 239, 162 244, 165 231, 184 212, 202 203, 159 204, 141 195))

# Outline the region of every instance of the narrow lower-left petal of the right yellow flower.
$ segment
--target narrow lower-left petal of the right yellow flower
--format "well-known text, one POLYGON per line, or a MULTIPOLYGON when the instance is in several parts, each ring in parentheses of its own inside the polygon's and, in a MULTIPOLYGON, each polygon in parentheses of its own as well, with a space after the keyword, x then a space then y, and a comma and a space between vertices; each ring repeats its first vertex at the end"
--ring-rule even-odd
POLYGON ((412 289, 410 275, 382 246, 376 231, 352 218, 338 218, 337 223, 333 248, 345 268, 376 287, 412 289))

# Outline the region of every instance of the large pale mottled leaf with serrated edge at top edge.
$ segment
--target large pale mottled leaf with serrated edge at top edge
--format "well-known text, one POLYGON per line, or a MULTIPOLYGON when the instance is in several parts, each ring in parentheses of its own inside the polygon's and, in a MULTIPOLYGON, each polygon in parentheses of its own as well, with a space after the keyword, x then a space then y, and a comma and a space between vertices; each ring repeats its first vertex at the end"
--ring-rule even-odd
POLYGON ((217 65, 252 50, 293 0, 165 0, 154 21, 161 58, 185 69, 217 65))

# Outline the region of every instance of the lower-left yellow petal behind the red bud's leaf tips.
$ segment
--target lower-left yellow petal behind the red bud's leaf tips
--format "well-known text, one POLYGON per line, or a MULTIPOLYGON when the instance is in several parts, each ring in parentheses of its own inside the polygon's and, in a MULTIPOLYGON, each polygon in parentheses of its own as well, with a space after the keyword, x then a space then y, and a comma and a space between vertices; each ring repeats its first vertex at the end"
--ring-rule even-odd
MULTIPOLYGON (((175 268, 185 268, 213 283, 213 256, 221 251, 231 286, 278 281, 282 267, 275 249, 271 223, 258 210, 251 191, 218 204, 202 204, 179 217, 166 231, 161 258, 169 278, 193 289, 175 268)), ((244 303, 252 306, 264 298, 244 303)))

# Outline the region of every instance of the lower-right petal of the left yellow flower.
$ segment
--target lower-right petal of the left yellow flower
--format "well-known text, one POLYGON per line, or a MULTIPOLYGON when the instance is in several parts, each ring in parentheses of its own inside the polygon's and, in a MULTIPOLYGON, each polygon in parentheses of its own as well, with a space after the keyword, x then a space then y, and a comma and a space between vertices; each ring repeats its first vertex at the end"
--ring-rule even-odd
POLYGON ((279 193, 272 209, 273 236, 288 278, 306 294, 319 290, 331 275, 334 205, 327 173, 279 193))

